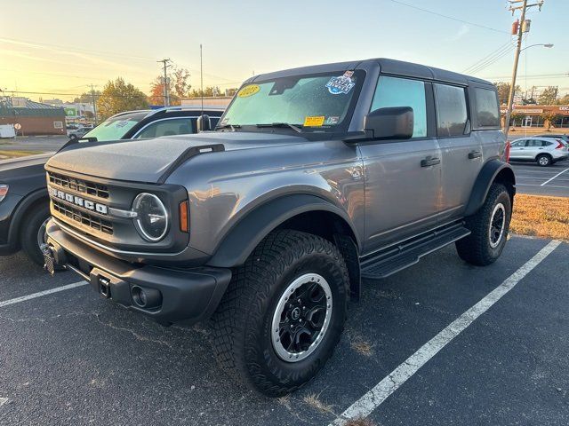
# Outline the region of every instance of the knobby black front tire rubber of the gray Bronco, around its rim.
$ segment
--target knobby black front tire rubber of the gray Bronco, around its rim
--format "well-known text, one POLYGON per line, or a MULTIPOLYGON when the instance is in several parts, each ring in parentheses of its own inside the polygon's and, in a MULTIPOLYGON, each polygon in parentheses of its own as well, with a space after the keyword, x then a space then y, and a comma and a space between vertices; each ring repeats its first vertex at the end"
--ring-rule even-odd
POLYGON ((348 269, 332 242, 309 233, 270 233, 236 268, 212 317, 212 345, 229 375, 253 390, 279 397, 309 382, 340 340, 349 302, 348 269), (285 362, 271 341, 278 299, 296 278, 320 274, 332 291, 333 309, 322 341, 308 358, 285 362))

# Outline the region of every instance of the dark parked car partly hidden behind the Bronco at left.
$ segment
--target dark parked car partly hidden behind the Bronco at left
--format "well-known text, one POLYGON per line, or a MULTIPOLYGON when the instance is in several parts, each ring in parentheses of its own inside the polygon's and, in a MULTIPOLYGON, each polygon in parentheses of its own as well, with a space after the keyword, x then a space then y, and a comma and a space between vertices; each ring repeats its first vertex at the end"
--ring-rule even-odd
MULTIPOLYGON (((212 127, 222 113, 221 109, 204 110, 212 127)), ((196 133, 200 114, 200 109, 182 106, 116 114, 73 143, 196 133)), ((0 162, 0 256, 23 249, 36 264, 44 264, 39 246, 50 217, 44 164, 53 154, 0 162)))

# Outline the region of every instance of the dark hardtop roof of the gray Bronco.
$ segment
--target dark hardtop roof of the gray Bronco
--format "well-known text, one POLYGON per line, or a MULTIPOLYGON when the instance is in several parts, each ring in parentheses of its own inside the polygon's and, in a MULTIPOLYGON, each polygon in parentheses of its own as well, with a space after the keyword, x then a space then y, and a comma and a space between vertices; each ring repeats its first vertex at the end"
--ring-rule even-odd
POLYGON ((374 64, 380 65, 382 74, 405 75, 407 77, 422 78, 438 82, 455 83, 461 85, 468 85, 469 83, 478 83, 478 84, 493 86, 493 83, 490 83, 486 80, 482 80, 480 78, 473 77, 470 75, 463 75, 459 73, 454 73, 453 71, 447 71, 445 69, 427 67, 421 64, 413 64, 413 62, 405 62, 403 60, 387 59, 387 58, 355 60, 350 62, 335 62, 330 64, 312 65, 309 67, 286 69, 283 71, 276 71, 274 73, 255 75, 254 77, 247 80, 247 82, 245 83, 251 83, 255 80, 262 81, 272 78, 286 77, 289 75, 318 74, 318 73, 325 73, 331 71, 341 72, 356 68, 365 69, 366 67, 374 64))

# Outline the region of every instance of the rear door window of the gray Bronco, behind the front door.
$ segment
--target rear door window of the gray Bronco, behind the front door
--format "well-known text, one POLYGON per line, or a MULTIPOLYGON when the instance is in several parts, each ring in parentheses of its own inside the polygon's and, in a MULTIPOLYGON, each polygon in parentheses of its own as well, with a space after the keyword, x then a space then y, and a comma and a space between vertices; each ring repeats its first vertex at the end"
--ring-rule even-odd
POLYGON ((435 84, 437 102, 437 135, 462 136, 468 133, 469 114, 464 89, 447 84, 435 84))

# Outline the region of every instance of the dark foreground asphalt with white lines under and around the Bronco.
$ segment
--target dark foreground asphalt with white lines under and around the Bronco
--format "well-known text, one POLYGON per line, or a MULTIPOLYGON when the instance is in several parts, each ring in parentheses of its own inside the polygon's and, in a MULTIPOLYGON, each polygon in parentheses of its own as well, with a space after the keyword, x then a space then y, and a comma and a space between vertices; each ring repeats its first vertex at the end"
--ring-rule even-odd
POLYGON ((566 425, 568 259, 513 237, 486 268, 449 247, 367 281, 317 379, 268 399, 220 372, 207 327, 161 327, 86 285, 49 293, 76 275, 0 258, 0 424, 327 425, 348 410, 376 426, 566 425))

